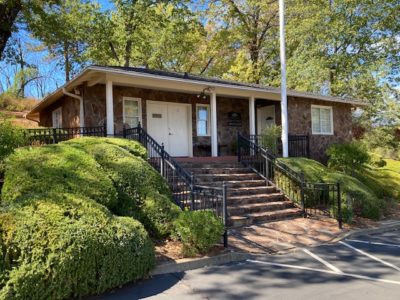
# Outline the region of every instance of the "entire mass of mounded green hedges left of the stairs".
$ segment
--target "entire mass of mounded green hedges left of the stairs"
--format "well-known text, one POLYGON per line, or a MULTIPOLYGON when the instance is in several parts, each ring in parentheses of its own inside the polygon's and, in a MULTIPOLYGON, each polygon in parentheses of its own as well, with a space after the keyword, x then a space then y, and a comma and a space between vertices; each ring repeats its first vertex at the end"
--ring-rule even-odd
POLYGON ((82 297, 146 276, 154 246, 132 216, 164 236, 179 208, 145 157, 138 143, 107 138, 12 154, 0 207, 0 299, 82 297))

